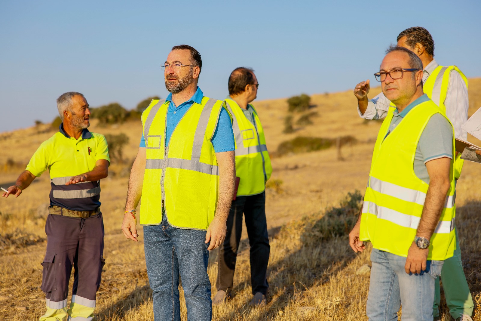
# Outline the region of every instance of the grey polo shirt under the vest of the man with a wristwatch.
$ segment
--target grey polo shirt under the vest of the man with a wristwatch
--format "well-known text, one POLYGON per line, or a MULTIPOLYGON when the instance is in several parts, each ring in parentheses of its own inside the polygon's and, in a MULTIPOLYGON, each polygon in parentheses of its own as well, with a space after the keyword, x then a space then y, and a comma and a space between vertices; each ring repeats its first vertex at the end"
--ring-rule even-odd
MULTIPOLYGON (((392 130, 394 130, 394 128, 399 126, 399 123, 404 119, 407 113, 413 109, 413 107, 427 101, 429 101, 429 97, 424 94, 407 105, 401 113, 398 113, 396 108, 391 124, 389 125, 389 131, 384 139, 392 130)), ((434 114, 431 116, 419 138, 418 148, 416 149, 416 155, 414 156, 414 173, 420 180, 429 184, 426 163, 442 157, 453 158, 453 127, 443 115, 434 114)), ((393 166, 395 165, 393 164, 393 166)))

